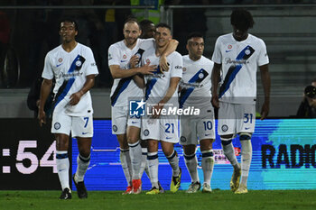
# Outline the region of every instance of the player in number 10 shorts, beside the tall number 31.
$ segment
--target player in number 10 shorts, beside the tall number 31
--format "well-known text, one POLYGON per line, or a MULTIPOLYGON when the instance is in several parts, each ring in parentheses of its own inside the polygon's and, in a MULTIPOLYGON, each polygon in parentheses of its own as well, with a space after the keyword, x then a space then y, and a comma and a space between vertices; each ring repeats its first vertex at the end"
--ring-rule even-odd
POLYGON ((200 190, 196 146, 200 142, 204 183, 202 192, 210 193, 210 179, 214 168, 212 142, 215 140, 214 110, 210 104, 210 75, 213 61, 203 56, 204 39, 200 33, 193 32, 187 39, 189 55, 182 56, 183 74, 180 82, 180 108, 200 109, 200 115, 181 115, 181 138, 185 165, 191 176, 191 185, 187 193, 200 190))

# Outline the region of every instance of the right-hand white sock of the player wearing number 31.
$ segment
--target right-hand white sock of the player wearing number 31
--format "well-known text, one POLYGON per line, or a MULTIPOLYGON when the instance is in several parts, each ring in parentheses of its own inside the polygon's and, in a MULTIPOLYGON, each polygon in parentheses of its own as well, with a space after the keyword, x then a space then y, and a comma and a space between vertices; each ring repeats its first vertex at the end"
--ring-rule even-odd
POLYGON ((246 186, 249 169, 252 159, 252 145, 250 140, 240 141, 241 143, 241 183, 246 186))

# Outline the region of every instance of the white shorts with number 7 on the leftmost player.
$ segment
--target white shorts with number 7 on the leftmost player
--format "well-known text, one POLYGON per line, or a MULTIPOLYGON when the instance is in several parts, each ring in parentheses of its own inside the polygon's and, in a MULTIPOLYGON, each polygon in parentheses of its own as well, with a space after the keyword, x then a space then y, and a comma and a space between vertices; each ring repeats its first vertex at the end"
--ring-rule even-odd
POLYGON ((52 114, 51 132, 67 135, 71 132, 72 137, 93 137, 93 117, 52 114))

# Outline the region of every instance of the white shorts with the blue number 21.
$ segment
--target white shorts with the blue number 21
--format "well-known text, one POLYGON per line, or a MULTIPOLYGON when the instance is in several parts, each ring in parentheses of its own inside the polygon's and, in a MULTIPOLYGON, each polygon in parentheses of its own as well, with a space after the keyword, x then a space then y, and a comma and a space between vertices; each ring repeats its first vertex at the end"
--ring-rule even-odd
POLYGON ((174 116, 159 119, 143 118, 142 120, 142 140, 157 140, 163 142, 178 143, 178 119, 174 116))

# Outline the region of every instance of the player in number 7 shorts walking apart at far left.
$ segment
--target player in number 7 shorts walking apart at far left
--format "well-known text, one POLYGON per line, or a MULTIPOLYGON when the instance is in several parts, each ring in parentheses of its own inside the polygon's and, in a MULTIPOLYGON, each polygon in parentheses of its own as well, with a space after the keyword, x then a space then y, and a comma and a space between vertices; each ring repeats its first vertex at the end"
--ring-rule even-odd
POLYGON ((84 176, 90 162, 93 136, 93 109, 89 89, 94 86, 98 68, 92 50, 75 40, 78 24, 71 19, 60 22, 62 44, 49 51, 42 72, 42 87, 38 119, 46 123, 44 106, 50 95, 52 79, 56 80, 53 92, 51 132, 56 138, 56 165, 62 193, 60 199, 71 199, 68 158, 70 132, 77 138, 79 155, 73 181, 79 198, 87 198, 84 176))

